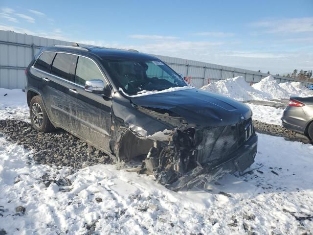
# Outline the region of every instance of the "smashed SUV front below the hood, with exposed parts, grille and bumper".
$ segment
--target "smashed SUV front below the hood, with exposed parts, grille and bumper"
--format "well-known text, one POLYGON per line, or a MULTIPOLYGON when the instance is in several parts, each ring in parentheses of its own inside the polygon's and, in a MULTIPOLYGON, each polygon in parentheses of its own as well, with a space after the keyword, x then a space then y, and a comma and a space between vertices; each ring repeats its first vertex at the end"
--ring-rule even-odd
POLYGON ((193 188, 226 173, 243 172, 254 162, 257 136, 251 118, 232 125, 203 127, 189 124, 185 118, 168 110, 136 108, 173 127, 141 137, 140 141, 150 143, 142 142, 136 147, 147 152, 149 146, 137 173, 154 174, 167 188, 174 191, 193 188))

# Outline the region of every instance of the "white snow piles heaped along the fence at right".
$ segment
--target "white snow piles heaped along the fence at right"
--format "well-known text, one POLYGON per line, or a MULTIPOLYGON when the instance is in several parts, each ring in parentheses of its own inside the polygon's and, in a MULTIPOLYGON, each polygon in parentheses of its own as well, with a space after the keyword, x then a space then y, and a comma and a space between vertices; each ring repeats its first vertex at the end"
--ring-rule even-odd
POLYGON ((239 76, 210 83, 201 87, 201 89, 223 94, 238 101, 268 101, 271 99, 288 99, 290 96, 313 96, 313 91, 302 86, 300 82, 278 84, 271 75, 263 78, 260 82, 252 86, 250 86, 242 76, 239 76))

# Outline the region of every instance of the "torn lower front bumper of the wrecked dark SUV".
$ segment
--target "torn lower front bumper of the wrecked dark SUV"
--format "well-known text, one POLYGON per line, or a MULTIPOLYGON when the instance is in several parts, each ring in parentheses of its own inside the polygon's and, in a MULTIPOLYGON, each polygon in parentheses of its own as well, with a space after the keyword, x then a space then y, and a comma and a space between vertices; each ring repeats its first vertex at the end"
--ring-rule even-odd
POLYGON ((218 180, 227 173, 234 173, 236 171, 243 172, 254 163, 254 158, 257 153, 257 142, 257 135, 251 136, 242 147, 231 154, 226 162, 216 165, 207 164, 206 166, 197 166, 181 176, 174 183, 166 185, 166 188, 174 191, 178 191, 184 187, 189 189, 202 182, 218 180))

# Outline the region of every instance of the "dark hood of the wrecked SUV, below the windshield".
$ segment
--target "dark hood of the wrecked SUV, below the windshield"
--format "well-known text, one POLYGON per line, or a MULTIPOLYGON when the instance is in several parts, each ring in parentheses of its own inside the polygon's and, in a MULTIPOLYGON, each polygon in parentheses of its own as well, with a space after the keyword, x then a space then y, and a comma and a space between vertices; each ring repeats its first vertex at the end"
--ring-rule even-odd
POLYGON ((141 107, 169 110, 188 123, 201 126, 232 125, 252 116, 246 104, 197 88, 136 96, 131 100, 141 107))

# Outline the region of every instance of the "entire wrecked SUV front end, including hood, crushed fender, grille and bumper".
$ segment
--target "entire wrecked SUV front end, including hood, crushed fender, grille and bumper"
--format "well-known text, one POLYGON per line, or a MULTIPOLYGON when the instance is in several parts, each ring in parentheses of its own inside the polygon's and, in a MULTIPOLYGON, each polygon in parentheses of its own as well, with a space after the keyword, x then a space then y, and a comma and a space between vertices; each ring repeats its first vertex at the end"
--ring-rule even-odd
POLYGON ((135 170, 175 191, 243 172, 257 153, 249 107, 200 89, 113 102, 113 113, 123 126, 116 134, 118 161, 140 156, 135 170))

